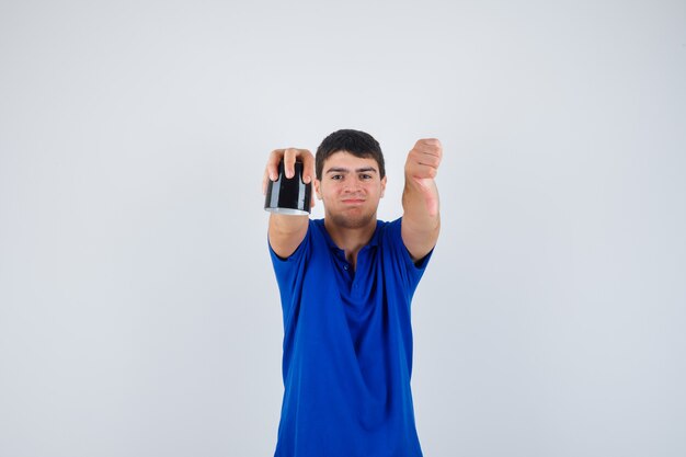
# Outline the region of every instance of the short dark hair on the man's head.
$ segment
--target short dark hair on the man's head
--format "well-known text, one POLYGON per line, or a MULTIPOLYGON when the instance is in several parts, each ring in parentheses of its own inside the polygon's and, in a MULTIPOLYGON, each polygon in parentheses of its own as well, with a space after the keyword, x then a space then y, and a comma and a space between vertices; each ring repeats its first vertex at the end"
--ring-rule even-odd
POLYGON ((323 139, 315 156, 315 169, 317 179, 321 181, 324 161, 333 153, 345 151, 355 157, 371 158, 379 164, 379 176, 386 175, 384 153, 379 142, 367 133, 345 128, 336 130, 323 139))

